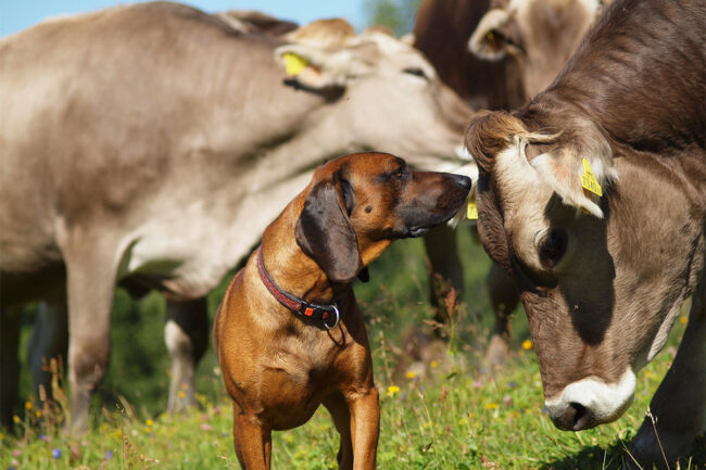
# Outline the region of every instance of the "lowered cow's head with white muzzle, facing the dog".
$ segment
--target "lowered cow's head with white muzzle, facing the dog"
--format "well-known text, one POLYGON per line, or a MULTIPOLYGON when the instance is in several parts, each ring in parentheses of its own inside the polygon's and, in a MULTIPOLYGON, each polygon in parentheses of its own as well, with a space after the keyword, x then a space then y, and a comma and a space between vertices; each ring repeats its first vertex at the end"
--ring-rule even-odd
POLYGON ((658 165, 614 158, 603 131, 577 115, 484 113, 466 137, 481 241, 520 288, 546 406, 566 430, 628 408, 635 372, 664 345, 699 269, 683 191, 658 165))

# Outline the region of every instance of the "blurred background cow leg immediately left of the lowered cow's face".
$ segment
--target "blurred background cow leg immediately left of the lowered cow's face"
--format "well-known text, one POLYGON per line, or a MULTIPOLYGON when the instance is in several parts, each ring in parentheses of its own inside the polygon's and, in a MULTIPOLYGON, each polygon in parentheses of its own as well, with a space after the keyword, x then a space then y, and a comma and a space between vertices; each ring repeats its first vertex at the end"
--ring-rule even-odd
POLYGON ((495 314, 495 327, 486 354, 486 361, 490 366, 502 366, 507 361, 509 320, 513 310, 519 303, 519 291, 509 275, 495 263, 491 265, 486 283, 495 314))

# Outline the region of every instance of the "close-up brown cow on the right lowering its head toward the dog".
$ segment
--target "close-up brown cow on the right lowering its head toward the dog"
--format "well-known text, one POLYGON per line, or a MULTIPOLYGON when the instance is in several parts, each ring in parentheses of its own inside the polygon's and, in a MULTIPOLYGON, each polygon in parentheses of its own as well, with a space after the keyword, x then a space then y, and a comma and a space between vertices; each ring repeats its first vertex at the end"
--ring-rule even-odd
POLYGON ((466 140, 481 240, 520 288, 557 427, 620 417, 693 294, 632 443, 654 462, 706 425, 704 24, 701 0, 617 1, 550 88, 466 140))

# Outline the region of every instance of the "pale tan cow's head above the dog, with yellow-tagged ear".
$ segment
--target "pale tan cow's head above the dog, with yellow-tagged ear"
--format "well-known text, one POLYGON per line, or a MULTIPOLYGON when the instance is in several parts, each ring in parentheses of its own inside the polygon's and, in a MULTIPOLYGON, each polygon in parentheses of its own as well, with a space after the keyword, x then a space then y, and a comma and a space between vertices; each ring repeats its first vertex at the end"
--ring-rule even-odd
POLYGON ((447 169, 443 163, 457 160, 470 110, 418 50, 380 30, 355 35, 341 20, 287 39, 275 56, 289 82, 330 98, 327 138, 404 155, 416 168, 447 169))

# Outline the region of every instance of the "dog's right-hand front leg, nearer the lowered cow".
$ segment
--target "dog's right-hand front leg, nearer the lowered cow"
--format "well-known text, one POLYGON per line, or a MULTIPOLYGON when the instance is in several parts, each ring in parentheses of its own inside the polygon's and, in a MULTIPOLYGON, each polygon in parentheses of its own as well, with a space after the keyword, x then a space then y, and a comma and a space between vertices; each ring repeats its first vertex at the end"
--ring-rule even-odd
POLYGON ((375 386, 348 397, 351 411, 353 470, 375 469, 380 433, 380 399, 375 386))

